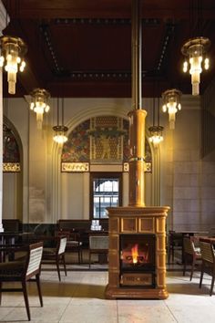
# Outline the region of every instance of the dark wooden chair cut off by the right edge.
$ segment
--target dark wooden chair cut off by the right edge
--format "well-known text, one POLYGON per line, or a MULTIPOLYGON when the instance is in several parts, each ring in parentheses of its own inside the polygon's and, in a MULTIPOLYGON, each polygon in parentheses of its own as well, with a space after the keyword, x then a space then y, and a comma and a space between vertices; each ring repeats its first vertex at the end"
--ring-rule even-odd
POLYGON ((206 243, 200 241, 200 251, 202 257, 202 265, 201 265, 201 272, 200 272, 200 287, 203 279, 204 273, 209 274, 212 276, 211 285, 210 285, 210 296, 212 296, 213 286, 214 286, 214 278, 215 278, 215 250, 213 245, 210 243, 206 243))

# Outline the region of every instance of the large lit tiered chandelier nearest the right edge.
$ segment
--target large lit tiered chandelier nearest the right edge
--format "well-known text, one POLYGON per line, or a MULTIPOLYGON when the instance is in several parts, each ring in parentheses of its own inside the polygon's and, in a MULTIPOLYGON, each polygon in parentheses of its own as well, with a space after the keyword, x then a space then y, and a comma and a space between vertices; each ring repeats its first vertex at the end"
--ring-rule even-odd
POLYGON ((201 64, 204 63, 204 68, 209 69, 209 58, 205 57, 205 53, 210 47, 210 39, 206 37, 191 38, 187 41, 181 52, 185 57, 189 57, 184 61, 183 71, 186 73, 189 68, 191 75, 192 95, 200 94, 200 73, 202 72, 201 64))

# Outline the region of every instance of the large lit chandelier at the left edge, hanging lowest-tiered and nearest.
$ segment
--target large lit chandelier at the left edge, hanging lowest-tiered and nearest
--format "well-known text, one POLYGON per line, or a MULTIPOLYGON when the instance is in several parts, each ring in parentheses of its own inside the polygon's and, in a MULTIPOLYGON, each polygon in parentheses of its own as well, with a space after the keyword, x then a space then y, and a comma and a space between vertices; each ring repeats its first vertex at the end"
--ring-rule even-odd
POLYGON ((26 43, 23 39, 15 36, 0 37, 1 57, 0 67, 4 67, 7 72, 8 92, 15 94, 16 74, 23 72, 26 67, 24 56, 27 51, 26 43))

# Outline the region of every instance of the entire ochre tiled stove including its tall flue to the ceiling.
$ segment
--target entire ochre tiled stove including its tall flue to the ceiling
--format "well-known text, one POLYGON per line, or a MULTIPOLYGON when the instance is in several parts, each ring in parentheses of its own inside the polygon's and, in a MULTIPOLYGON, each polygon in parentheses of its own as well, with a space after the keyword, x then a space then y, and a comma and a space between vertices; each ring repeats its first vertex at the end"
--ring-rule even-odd
POLYGON ((109 269, 107 298, 168 297, 166 217, 168 206, 144 203, 145 119, 141 109, 141 20, 132 0, 132 106, 129 116, 129 204, 107 208, 109 269))

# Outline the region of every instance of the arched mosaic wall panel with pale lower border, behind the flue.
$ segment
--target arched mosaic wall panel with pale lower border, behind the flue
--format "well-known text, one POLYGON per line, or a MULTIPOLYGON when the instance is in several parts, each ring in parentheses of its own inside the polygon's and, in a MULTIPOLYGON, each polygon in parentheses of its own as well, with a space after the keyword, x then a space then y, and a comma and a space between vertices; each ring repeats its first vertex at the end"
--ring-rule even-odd
MULTIPOLYGON (((128 120, 115 116, 82 122, 70 132, 63 146, 61 172, 89 172, 88 163, 128 163, 128 128, 128 120)), ((146 172, 151 172, 151 151, 148 140, 145 142, 146 172)), ((126 166, 123 169, 128 172, 126 166)))

